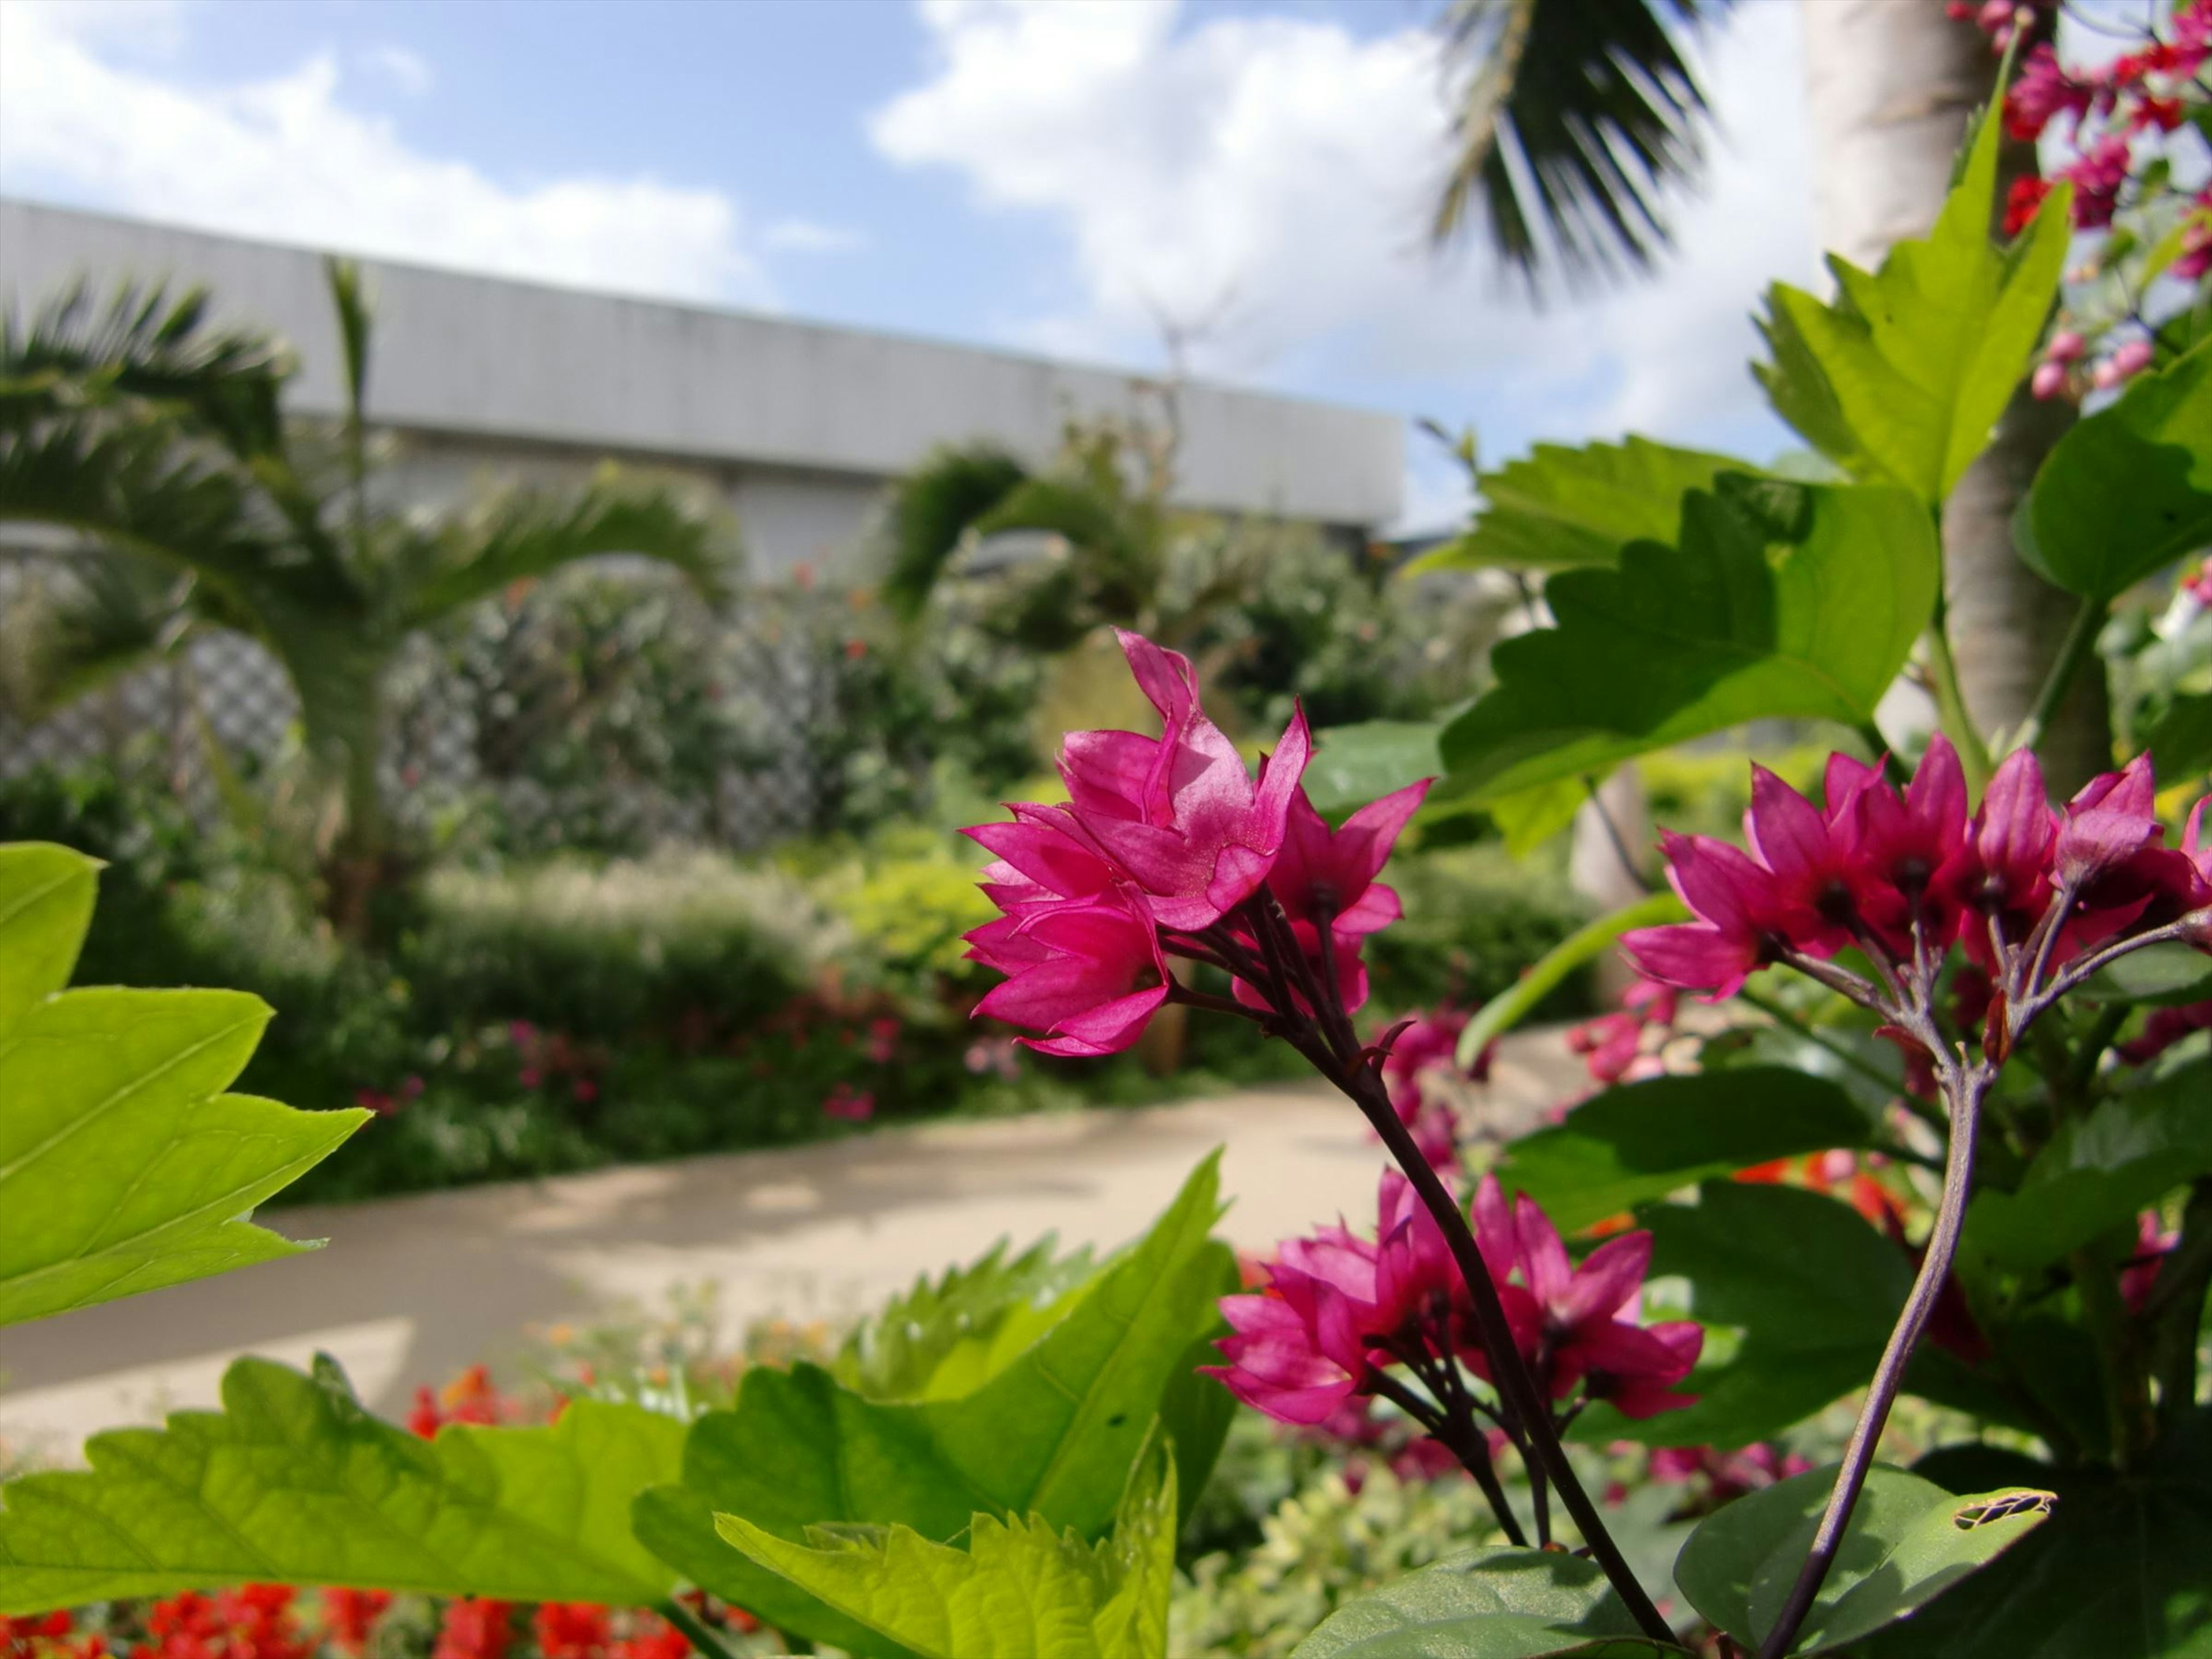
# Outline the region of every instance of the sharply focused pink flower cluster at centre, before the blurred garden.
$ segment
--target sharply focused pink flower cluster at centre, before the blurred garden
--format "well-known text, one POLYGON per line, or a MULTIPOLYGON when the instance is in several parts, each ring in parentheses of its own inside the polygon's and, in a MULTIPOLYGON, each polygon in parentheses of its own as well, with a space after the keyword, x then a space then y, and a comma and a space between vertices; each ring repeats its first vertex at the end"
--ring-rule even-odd
POLYGON ((975 1011, 1040 1033, 1024 1042, 1042 1053, 1117 1053, 1175 993, 1168 956, 1230 967, 1239 1002, 1279 1006, 1254 978, 1276 911, 1301 958, 1294 1006, 1314 1013, 1303 987, 1334 984, 1345 1011, 1358 1009, 1360 947, 1400 914, 1376 876, 1427 783, 1329 830, 1301 783, 1303 710, 1254 779, 1199 708, 1190 661, 1141 635, 1119 639, 1159 737, 1068 732, 1064 807, 1015 803, 1011 823, 967 832, 998 856, 984 891, 1004 911, 967 936, 969 956, 1006 975, 975 1011), (1276 911, 1256 916, 1259 898, 1276 911))

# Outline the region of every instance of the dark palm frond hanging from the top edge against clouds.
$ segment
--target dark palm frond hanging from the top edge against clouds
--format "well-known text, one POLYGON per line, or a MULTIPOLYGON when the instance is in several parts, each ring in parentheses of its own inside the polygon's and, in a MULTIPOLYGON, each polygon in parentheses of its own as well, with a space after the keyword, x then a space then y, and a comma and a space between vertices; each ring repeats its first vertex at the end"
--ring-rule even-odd
POLYGON ((1670 243, 1659 195, 1697 175, 1710 117, 1679 35, 1728 7, 1453 0, 1442 31, 1464 91, 1433 239, 1460 237, 1480 201, 1531 288, 1553 263, 1571 283, 1650 265, 1670 243))

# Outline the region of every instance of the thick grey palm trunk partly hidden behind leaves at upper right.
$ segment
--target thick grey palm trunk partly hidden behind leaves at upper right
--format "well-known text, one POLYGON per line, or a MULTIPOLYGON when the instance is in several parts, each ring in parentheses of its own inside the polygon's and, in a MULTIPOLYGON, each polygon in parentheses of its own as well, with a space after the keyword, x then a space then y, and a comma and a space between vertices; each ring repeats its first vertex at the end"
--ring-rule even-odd
MULTIPOLYGON (((1807 0, 1805 102, 1820 241, 1856 265, 1927 234, 1951 186, 1966 117, 1995 91, 1995 58, 1938 0, 1807 0)), ((2004 181, 2033 166, 2011 146, 2004 181)), ((2002 181, 2000 181, 2002 201, 2002 181)), ((1944 588, 1966 708, 1984 732, 2015 728, 2073 622, 2073 599, 2013 553, 2013 509, 2066 431, 2070 405, 2017 396, 1944 511, 1944 588)), ((2110 761, 2101 666, 2084 672, 2044 739, 2068 790, 2110 761)))

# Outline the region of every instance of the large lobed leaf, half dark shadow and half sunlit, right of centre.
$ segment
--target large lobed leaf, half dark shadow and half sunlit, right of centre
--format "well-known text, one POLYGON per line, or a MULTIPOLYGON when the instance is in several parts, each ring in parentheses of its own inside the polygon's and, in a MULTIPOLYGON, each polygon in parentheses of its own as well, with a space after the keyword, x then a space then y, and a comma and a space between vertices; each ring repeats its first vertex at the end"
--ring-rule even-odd
POLYGON ((1672 546, 1546 584, 1555 628, 1502 641, 1444 728, 1444 794, 1495 801, 1752 719, 1863 726, 1936 604, 1927 509, 1898 489, 1723 473, 1672 546))

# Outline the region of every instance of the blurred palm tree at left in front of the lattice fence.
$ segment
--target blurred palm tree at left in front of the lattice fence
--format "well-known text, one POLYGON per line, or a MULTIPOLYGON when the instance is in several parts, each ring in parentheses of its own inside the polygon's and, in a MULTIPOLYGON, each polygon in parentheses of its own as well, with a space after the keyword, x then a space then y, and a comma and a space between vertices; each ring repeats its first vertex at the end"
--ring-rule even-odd
POLYGON ((385 670, 400 644, 513 582, 602 553, 661 560, 708 593, 732 568, 719 522, 666 489, 602 476, 509 491, 440 518, 383 504, 369 467, 369 303, 327 261, 345 414, 288 422, 290 358, 215 330, 199 290, 82 288, 27 325, 0 319, 0 522, 69 531, 69 593, 31 666, 44 706, 199 630, 261 641, 299 695, 310 765, 334 801, 323 905, 361 938, 403 874, 378 787, 385 670))

